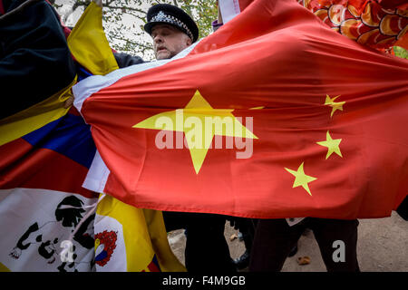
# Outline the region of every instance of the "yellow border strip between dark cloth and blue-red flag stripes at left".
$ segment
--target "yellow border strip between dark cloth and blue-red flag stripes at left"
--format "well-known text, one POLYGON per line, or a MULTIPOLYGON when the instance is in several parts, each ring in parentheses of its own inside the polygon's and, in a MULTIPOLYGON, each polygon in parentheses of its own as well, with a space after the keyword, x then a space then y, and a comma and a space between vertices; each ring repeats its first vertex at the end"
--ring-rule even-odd
POLYGON ((71 87, 75 82, 76 78, 69 86, 43 102, 0 120, 0 146, 63 117, 69 110, 64 109, 63 104, 72 96, 71 87))

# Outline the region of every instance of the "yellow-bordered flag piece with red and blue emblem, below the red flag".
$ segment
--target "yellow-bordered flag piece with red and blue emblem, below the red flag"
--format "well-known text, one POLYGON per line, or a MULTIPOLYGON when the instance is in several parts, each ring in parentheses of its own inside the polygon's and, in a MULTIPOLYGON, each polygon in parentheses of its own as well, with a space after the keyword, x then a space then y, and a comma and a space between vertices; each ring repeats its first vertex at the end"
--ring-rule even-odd
POLYGON ((134 208, 102 195, 96 210, 97 272, 183 272, 171 251, 160 211, 134 208))

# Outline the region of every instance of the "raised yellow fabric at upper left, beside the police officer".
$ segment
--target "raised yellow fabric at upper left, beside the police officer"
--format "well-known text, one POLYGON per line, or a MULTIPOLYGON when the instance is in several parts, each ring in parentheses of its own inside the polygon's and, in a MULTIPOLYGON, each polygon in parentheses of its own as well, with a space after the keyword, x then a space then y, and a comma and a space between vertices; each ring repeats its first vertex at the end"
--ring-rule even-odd
POLYGON ((75 60, 92 74, 105 75, 119 68, 102 27, 102 8, 86 8, 67 39, 75 60))

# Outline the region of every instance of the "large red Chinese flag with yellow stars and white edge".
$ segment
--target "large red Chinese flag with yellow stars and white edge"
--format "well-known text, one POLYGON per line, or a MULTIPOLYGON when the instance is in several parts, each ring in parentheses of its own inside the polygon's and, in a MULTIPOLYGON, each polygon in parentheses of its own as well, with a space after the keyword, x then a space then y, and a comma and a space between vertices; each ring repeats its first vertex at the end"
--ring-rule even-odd
POLYGON ((254 1, 191 51, 74 93, 101 157, 84 186, 135 207, 380 218, 408 192, 408 62, 295 0, 254 1))

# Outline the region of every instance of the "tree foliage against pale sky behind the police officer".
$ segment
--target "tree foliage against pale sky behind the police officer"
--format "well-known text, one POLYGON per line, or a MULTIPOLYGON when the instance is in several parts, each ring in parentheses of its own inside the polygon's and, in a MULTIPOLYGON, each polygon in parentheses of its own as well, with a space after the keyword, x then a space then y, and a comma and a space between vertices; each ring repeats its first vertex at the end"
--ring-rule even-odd
MULTIPOLYGON (((71 5, 72 11, 69 13, 76 14, 75 21, 91 3, 90 0, 51 2, 59 11, 66 11, 66 7, 71 5)), ((216 2, 216 0, 102 0, 103 28, 113 49, 151 60, 154 57, 151 38, 143 30, 146 13, 151 5, 168 3, 184 9, 199 25, 199 37, 204 37, 212 32, 211 22, 217 19, 216 2)))

